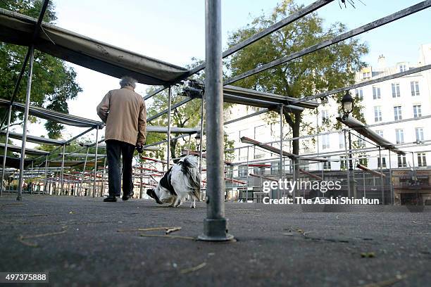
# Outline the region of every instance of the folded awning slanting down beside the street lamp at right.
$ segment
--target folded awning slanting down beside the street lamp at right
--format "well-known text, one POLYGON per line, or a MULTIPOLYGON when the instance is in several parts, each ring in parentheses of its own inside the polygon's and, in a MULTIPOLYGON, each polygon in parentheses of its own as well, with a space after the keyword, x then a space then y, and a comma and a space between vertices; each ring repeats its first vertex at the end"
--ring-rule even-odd
POLYGON ((350 127, 351 129, 354 129, 359 134, 365 136, 367 139, 370 139, 371 141, 374 141, 377 146, 381 146, 382 148, 387 148, 394 153, 398 153, 400 155, 405 155, 404 151, 399 151, 399 149, 395 148, 395 145, 392 144, 390 141, 385 139, 383 136, 380 136, 379 134, 373 132, 369 127, 366 127, 365 124, 363 124, 361 121, 356 119, 355 117, 351 115, 343 115, 342 117, 337 117, 337 120, 339 122, 342 122, 347 127, 350 127))

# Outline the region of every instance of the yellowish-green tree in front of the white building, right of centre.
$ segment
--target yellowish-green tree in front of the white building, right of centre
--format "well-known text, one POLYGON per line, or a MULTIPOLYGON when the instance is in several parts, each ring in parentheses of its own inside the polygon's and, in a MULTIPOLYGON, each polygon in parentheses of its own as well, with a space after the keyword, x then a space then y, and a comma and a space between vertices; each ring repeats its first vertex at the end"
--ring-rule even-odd
MULTIPOLYGON (((263 14, 255 18, 251 25, 233 32, 228 39, 229 46, 242 42, 256 32, 287 18, 288 15, 302 8, 304 6, 296 5, 294 1, 285 0, 277 5, 270 15, 263 14)), ((342 23, 334 23, 325 28, 323 22, 323 18, 320 18, 317 13, 308 14, 238 51, 228 63, 232 76, 240 75, 259 65, 288 56, 346 32, 346 26, 342 23)), ((366 44, 362 44, 358 39, 349 39, 247 77, 236 84, 239 87, 294 98, 310 96, 353 84, 355 72, 365 66, 361 57, 366 53, 368 53, 366 44)), ((342 93, 335 95, 337 101, 341 97, 342 93)), ((356 101, 359 99, 356 98, 356 101)), ((325 102, 323 101, 322 104, 325 102)), ((354 110, 354 116, 363 120, 358 109, 354 110)), ((268 122, 273 122, 276 117, 276 113, 271 113, 268 122)), ((293 137, 300 136, 301 131, 311 132, 309 125, 302 121, 301 113, 285 113, 284 118, 292 130, 293 137)), ((292 152, 299 154, 299 140, 293 141, 292 152)), ((297 161, 295 163, 298 164, 297 161)))

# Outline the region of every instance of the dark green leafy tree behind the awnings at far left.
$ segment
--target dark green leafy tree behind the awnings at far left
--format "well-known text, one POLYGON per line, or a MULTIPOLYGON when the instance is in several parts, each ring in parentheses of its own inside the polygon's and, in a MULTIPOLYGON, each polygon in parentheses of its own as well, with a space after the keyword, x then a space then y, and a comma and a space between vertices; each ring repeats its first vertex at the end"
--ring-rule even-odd
MULTIPOLYGON (((42 0, 1 0, 0 8, 38 18, 42 3, 42 0)), ((50 1, 44 15, 44 21, 54 23, 55 20, 54 5, 50 1)), ((0 90, 2 91, 2 97, 11 99, 26 53, 27 47, 25 46, 0 42, 0 90)), ((27 75, 27 72, 25 72, 15 101, 25 102, 27 75)), ((75 98, 82 91, 75 78, 75 70, 66 66, 63 60, 35 50, 31 104, 68 113, 67 101, 75 98)), ((6 109, 0 110, 1 119, 4 118, 6 113, 6 109)), ((22 118, 23 113, 14 112, 11 116, 11 122, 19 121, 22 118)), ((32 120, 35 119, 33 118, 32 120)), ((61 136, 63 125, 47 121, 45 127, 50 138, 57 139, 61 136)))

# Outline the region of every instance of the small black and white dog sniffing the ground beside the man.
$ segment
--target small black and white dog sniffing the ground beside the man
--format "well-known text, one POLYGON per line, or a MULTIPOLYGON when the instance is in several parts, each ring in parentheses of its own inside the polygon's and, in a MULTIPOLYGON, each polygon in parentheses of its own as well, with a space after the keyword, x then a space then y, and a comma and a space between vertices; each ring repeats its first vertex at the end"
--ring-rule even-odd
POLYGON ((190 208, 196 208, 196 199, 201 199, 201 174, 197 158, 187 155, 170 167, 155 189, 147 189, 146 194, 156 203, 168 203, 177 207, 182 204, 187 194, 192 196, 190 208))

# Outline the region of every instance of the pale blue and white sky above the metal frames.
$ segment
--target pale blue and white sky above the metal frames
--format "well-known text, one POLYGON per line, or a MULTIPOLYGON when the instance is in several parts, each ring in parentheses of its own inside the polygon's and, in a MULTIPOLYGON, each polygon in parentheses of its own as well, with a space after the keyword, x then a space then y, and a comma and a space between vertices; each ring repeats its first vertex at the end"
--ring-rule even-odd
MULTIPOLYGON (((185 66, 192 58, 205 58, 204 0, 51 0, 56 6, 56 25, 114 46, 141 53, 175 65, 185 66)), ((227 48, 229 34, 246 26, 261 15, 267 15, 281 0, 222 0, 222 42, 227 48)), ((308 5, 314 0, 296 0, 308 5)), ((325 25, 340 22, 349 30, 395 13, 420 1, 354 0, 356 8, 340 8, 338 1, 318 10, 325 25), (361 3, 363 2, 363 4, 361 3)), ((383 54, 387 65, 398 62, 416 63, 420 44, 431 43, 431 8, 389 23, 358 36, 369 46, 363 58, 375 65, 383 54)), ((70 64, 77 72, 83 91, 68 101, 73 115, 99 120, 96 106, 111 89, 118 89, 118 79, 70 64)), ((144 95, 147 87, 139 84, 136 91, 144 95)), ((30 134, 46 135, 43 121, 30 125, 30 134)), ((63 138, 69 139, 84 129, 66 127, 63 138)), ((19 129, 17 129, 19 131, 19 129)), ((103 134, 103 130, 102 130, 103 134)), ((89 136, 95 139, 95 134, 89 136)), ((29 146, 34 147, 30 144, 29 146)))

